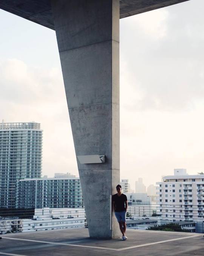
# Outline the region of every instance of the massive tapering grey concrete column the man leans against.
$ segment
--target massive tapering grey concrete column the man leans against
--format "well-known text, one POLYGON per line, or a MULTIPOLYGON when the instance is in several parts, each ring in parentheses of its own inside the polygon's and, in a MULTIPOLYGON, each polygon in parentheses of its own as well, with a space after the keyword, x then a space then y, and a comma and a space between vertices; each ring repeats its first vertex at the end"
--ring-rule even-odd
POLYGON ((119 184, 119 0, 52 0, 90 237, 111 239, 119 227, 111 195, 119 184), (89 158, 89 157, 88 157, 89 158))

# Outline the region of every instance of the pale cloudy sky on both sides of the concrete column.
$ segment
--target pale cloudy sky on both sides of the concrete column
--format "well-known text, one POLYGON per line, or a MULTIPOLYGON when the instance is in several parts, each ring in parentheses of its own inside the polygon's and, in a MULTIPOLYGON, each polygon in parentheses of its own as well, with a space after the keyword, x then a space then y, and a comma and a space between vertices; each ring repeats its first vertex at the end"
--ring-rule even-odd
MULTIPOLYGON (((203 0, 120 20, 121 179, 204 171, 203 0)), ((0 10, 0 120, 41 123, 42 174, 76 174, 55 31, 0 10), (60 153, 59 153, 60 152, 60 153)))

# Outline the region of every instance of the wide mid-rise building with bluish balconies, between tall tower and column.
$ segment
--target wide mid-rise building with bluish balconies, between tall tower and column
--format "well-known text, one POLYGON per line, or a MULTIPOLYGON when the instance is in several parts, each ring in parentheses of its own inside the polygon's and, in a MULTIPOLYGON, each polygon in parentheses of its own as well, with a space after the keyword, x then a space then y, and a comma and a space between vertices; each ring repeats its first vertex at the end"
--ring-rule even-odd
POLYGON ((83 208, 79 177, 20 179, 16 208, 83 208))

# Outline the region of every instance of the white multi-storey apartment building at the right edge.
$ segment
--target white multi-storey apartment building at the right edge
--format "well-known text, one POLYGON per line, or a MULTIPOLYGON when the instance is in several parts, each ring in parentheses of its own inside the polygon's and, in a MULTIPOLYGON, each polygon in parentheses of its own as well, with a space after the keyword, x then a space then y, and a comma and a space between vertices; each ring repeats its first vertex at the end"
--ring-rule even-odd
POLYGON ((175 169, 157 182, 158 214, 170 221, 204 221, 204 174, 175 169))

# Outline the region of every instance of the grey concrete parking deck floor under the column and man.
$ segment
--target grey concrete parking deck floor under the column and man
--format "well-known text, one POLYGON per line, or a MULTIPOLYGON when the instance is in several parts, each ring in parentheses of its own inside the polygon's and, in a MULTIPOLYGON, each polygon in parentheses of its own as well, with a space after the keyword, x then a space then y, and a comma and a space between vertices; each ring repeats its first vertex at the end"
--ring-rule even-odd
POLYGON ((0 240, 0 255, 15 256, 204 256, 203 234, 127 230, 128 240, 97 240, 88 229, 57 229, 7 234, 0 240))

